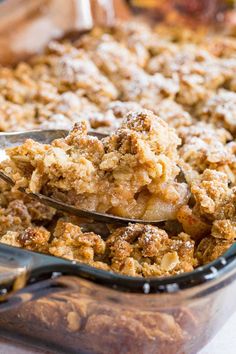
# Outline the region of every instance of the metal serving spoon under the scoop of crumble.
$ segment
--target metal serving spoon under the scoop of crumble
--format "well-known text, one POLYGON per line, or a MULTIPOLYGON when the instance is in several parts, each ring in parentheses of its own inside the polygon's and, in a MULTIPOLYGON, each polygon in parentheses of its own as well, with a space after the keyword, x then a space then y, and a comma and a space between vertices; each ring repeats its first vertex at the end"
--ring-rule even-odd
MULTIPOLYGON (((37 142, 49 144, 55 139, 64 138, 69 133, 68 130, 32 130, 28 132, 13 132, 13 133, 0 133, 0 149, 4 150, 8 147, 18 146, 25 142, 26 139, 33 139, 37 142)), ((95 136, 98 139, 102 139, 107 134, 90 131, 89 135, 95 136)), ((11 186, 15 185, 15 182, 7 176, 4 172, 0 171, 0 178, 11 186)), ((108 224, 128 224, 128 223, 142 223, 158 225, 166 220, 140 220, 129 219, 106 213, 99 213, 96 211, 89 211, 79 209, 70 204, 63 203, 55 198, 47 197, 41 193, 27 192, 24 188, 19 188, 23 193, 26 193, 29 197, 40 201, 42 204, 48 205, 54 209, 73 214, 82 218, 92 219, 98 222, 105 222, 108 224)))

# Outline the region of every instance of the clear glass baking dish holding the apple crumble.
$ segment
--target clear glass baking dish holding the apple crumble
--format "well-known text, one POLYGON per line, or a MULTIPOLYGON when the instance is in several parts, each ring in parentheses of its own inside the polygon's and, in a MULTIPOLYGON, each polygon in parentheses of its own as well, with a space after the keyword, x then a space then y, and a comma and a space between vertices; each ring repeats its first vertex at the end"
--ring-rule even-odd
MULTIPOLYGON (((144 1, 133 1, 138 14, 139 4, 144 1)), ((7 15, 6 8, 0 34, 9 24, 7 15)), ((47 35, 45 43, 61 33, 47 35)), ((22 47, 13 56, 6 38, 0 36, 7 61, 29 54, 22 47)), ((236 244, 194 272, 158 279, 126 277, 0 245, 0 336, 57 353, 196 353, 235 311, 235 278, 236 244)))

